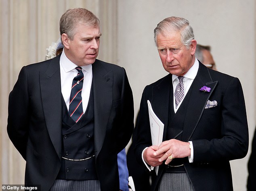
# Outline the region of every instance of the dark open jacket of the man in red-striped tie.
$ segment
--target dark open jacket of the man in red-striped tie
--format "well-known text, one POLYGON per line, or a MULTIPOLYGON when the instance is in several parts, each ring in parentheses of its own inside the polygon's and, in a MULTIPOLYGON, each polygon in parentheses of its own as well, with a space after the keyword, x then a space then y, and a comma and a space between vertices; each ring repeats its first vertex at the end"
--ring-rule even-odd
MULTIPOLYGON (((10 92, 7 131, 26 160, 25 184, 49 190, 61 166, 60 56, 24 66, 10 92)), ((92 64, 94 147, 102 191, 119 190, 117 154, 133 131, 132 90, 124 68, 92 64)))

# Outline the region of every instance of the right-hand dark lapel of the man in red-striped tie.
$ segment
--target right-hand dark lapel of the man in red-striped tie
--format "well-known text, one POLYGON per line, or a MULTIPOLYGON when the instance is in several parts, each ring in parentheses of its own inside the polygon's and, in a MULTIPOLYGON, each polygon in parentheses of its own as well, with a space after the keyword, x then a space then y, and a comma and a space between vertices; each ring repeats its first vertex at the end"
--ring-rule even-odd
POLYGON ((92 64, 94 103, 94 146, 96 157, 106 135, 107 121, 113 101, 113 71, 107 71, 99 60, 92 64))

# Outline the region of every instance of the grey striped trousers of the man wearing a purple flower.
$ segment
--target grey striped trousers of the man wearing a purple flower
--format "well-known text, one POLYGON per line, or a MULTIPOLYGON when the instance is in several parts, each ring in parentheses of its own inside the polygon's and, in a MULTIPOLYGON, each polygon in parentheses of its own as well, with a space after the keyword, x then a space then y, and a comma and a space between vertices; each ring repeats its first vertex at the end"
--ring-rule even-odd
POLYGON ((194 191, 187 173, 164 173, 158 191, 194 191))

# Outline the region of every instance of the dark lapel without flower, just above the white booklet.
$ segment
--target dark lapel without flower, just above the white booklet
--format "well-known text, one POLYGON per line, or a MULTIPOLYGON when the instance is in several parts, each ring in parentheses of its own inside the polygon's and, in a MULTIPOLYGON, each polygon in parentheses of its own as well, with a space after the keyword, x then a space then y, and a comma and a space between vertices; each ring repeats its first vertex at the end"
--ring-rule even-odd
POLYGON ((157 86, 152 88, 152 100, 149 100, 153 111, 164 123, 163 141, 168 128, 169 102, 170 93, 173 93, 172 89, 172 75, 169 74, 157 86))

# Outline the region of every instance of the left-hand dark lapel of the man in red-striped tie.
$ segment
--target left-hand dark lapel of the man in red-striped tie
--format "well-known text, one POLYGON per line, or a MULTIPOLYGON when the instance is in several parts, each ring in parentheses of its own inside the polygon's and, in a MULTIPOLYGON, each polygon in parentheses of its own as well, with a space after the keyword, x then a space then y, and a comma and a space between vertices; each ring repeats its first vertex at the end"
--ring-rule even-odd
POLYGON ((59 67, 60 56, 50 60, 45 73, 40 72, 40 89, 46 127, 52 144, 61 159, 61 76, 59 67))

